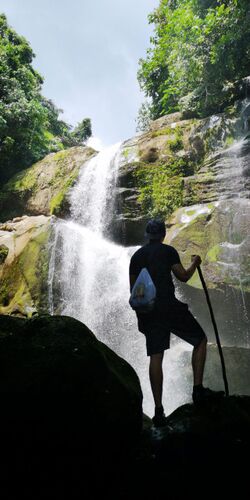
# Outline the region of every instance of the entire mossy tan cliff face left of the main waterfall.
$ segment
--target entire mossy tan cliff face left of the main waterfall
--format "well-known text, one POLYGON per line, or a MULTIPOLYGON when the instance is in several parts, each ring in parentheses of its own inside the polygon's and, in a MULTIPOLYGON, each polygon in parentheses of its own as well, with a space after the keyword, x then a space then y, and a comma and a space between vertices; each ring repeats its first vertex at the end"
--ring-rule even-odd
POLYGON ((80 167, 94 154, 88 147, 52 153, 2 187, 1 314, 32 316, 48 311, 51 215, 66 216, 68 192, 80 167))

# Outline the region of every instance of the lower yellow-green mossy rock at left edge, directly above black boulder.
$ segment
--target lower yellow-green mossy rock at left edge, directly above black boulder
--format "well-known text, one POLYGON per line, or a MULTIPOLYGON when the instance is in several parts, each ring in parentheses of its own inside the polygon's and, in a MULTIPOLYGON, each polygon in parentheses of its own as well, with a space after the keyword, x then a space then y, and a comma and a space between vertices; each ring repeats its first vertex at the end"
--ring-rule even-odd
POLYGON ((0 314, 30 317, 48 310, 50 220, 44 219, 41 225, 30 225, 20 234, 18 224, 22 222, 14 224, 17 234, 13 231, 6 241, 11 252, 1 273, 0 314))

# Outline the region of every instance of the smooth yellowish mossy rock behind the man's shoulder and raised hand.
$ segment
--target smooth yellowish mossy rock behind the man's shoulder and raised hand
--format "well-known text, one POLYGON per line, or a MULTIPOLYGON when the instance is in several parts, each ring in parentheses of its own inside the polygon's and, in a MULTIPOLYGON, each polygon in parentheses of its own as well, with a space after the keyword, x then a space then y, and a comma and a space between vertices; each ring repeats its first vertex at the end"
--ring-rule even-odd
MULTIPOLYGON (((165 241, 176 247, 185 267, 189 267, 192 254, 201 256, 209 288, 226 284, 249 292, 249 214, 246 211, 229 235, 228 228, 235 227, 234 217, 235 207, 232 201, 230 209, 226 201, 180 208, 167 221, 169 229, 165 241)), ((202 288, 198 273, 188 283, 202 288)))

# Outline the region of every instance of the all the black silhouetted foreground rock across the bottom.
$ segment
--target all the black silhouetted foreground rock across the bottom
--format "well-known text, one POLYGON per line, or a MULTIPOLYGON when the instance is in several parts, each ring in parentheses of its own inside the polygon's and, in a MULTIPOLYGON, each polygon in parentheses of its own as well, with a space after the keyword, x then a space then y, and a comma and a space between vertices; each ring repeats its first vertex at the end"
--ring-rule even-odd
POLYGON ((246 498, 250 397, 142 430, 134 370, 65 316, 0 316, 0 370, 3 498, 246 498))

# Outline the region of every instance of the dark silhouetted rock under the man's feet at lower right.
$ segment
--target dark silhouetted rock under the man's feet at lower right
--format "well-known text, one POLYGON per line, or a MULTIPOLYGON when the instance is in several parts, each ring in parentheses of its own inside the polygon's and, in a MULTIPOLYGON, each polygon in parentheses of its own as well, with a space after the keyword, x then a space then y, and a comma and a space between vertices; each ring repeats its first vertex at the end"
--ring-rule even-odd
POLYGON ((148 426, 151 463, 147 489, 170 499, 246 498, 250 452, 250 397, 229 396, 186 404, 168 417, 168 426, 148 426), (153 478, 153 480, 152 480, 153 478))

